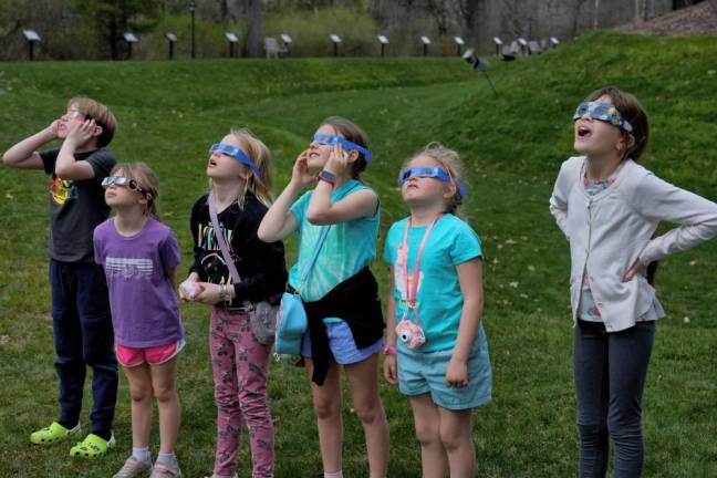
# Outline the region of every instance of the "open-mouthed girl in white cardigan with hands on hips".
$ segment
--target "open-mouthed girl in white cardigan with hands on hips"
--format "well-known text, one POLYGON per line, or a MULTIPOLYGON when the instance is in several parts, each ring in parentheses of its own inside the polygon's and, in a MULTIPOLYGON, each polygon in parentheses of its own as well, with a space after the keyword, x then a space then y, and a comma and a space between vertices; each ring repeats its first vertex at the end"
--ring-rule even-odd
POLYGON ((716 236, 717 205, 637 165, 650 131, 633 95, 598 90, 573 119, 582 156, 560 168, 550 211, 570 241, 580 476, 605 476, 612 438, 615 477, 640 477, 642 394, 665 315, 646 268, 716 236), (680 227, 653 238, 662 220, 680 227))

